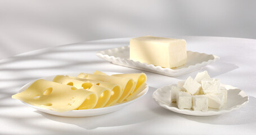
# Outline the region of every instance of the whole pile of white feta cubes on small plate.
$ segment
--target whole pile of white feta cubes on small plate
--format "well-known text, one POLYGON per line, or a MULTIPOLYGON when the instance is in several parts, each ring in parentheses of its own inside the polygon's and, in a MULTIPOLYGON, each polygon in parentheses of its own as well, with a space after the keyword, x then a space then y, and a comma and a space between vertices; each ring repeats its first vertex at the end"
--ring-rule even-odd
POLYGON ((227 89, 221 89, 219 80, 210 78, 207 71, 203 71, 197 73, 195 79, 188 77, 172 86, 170 101, 176 102, 179 109, 221 109, 227 102, 227 89))

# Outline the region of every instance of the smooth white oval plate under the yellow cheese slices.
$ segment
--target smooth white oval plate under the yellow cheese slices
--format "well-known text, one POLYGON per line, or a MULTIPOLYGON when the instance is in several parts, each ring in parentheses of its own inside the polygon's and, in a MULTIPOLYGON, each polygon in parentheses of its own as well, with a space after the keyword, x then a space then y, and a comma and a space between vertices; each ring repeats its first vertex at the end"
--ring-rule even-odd
MULTIPOLYGON (((105 72, 107 74, 120 74, 120 73, 110 73, 110 72, 105 72)), ((65 74, 65 75, 69 75, 69 76, 73 76, 73 77, 77 77, 79 73, 72 73, 72 74, 65 74)), ((53 78, 55 78, 56 75, 52 75, 50 77, 44 77, 44 78, 40 78, 40 79, 44 79, 44 80, 50 80, 52 81, 53 78)), ((33 81, 34 82, 34 81, 33 81)), ((23 86, 19 92, 23 92, 25 91, 25 89, 27 89, 33 82, 27 83, 25 84, 25 86, 23 86)), ((57 116, 68 116, 68 117, 84 117, 84 116, 96 116, 96 115, 102 115, 102 114, 107 114, 107 113, 112 113, 114 111, 120 110, 123 107, 132 104, 133 102, 137 101, 138 99, 140 99, 141 97, 143 97, 144 95, 146 95, 147 91, 149 90, 149 86, 145 86, 145 88, 143 89, 143 91, 141 93, 138 93, 138 95, 135 95, 134 97, 132 97, 131 101, 127 101, 127 102, 123 102, 122 104, 115 104, 113 106, 109 106, 109 107, 102 107, 102 108, 98 108, 98 109, 86 109, 86 110, 71 110, 71 111, 65 111, 65 112, 57 112, 57 111, 52 111, 49 109, 45 109, 42 107, 38 107, 38 106, 33 106, 30 105, 26 102, 23 102, 25 105, 28 105, 30 107, 33 107, 34 109, 37 109, 38 111, 42 111, 44 113, 47 114, 52 114, 52 115, 57 115, 57 116)))

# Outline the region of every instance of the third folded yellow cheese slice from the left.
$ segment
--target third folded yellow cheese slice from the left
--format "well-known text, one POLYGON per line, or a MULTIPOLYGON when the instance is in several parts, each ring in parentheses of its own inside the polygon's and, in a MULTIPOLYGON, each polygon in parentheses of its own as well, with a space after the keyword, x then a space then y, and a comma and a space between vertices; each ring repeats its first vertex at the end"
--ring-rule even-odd
POLYGON ((105 87, 112 90, 109 101, 107 101, 107 104, 104 107, 114 105, 123 94, 123 89, 119 84, 107 83, 107 82, 101 82, 100 80, 90 80, 90 79, 83 79, 83 78, 77 78, 77 77, 70 77, 70 78, 82 80, 85 82, 88 81, 88 82, 91 82, 92 84, 96 84, 98 86, 105 87))

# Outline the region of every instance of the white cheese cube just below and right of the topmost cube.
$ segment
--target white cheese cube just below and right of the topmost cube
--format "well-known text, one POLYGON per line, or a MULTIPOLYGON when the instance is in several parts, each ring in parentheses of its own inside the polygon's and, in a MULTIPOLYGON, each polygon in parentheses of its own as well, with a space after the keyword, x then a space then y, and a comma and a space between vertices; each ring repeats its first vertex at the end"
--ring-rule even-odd
POLYGON ((201 80, 203 93, 219 93, 221 92, 221 86, 218 79, 203 79, 201 80))

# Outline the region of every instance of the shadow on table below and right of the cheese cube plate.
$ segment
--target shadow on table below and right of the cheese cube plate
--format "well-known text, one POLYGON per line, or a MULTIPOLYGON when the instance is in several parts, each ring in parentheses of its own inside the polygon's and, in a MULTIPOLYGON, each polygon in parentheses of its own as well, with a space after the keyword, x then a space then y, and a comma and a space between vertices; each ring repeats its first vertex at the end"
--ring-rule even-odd
POLYGON ((218 124, 218 125, 239 125, 256 122, 256 98, 249 96, 249 103, 239 110, 216 116, 188 116, 177 114, 182 118, 193 120, 200 123, 218 124))

